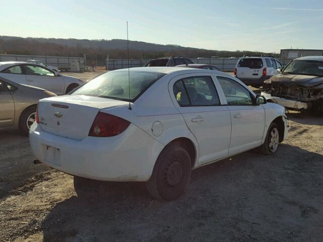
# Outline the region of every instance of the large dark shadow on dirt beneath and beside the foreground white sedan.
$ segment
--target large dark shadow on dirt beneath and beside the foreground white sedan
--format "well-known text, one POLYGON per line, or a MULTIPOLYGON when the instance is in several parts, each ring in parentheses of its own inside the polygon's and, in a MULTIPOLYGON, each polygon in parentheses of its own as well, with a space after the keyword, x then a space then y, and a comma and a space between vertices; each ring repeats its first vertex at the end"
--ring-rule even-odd
POLYGON ((51 209, 43 241, 319 241, 323 156, 282 144, 192 172, 178 200, 153 199, 144 183, 97 182, 100 193, 51 209))

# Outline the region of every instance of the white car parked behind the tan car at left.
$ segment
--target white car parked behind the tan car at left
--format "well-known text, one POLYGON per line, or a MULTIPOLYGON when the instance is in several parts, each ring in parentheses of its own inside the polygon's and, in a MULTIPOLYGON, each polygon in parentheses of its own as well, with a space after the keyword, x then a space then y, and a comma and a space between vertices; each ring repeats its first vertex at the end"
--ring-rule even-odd
POLYGON ((0 77, 39 87, 57 95, 69 93, 84 83, 78 78, 64 76, 41 65, 26 62, 0 62, 0 77))

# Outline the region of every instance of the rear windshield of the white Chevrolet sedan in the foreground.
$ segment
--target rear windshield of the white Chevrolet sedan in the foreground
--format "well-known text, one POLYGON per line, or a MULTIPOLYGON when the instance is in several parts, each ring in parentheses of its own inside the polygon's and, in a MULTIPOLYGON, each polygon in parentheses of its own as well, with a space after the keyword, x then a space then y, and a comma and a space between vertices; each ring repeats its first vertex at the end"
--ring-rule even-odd
POLYGON ((100 75, 75 90, 72 94, 134 102, 155 81, 163 76, 165 76, 164 73, 139 72, 131 71, 130 69, 130 98, 128 69, 100 75))

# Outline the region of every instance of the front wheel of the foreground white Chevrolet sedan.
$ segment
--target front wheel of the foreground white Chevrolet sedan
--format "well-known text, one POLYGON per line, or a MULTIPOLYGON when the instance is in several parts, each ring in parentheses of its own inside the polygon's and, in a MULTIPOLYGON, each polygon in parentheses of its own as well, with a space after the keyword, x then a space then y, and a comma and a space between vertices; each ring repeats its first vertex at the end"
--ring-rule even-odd
POLYGON ((278 146, 279 146, 279 137, 280 135, 283 134, 279 134, 279 128, 278 125, 276 123, 272 123, 268 129, 267 135, 266 135, 266 139, 263 143, 262 146, 260 146, 257 151, 260 154, 264 154, 264 155, 272 155, 275 154, 278 150, 278 146), (277 136, 273 137, 273 133, 277 136), (275 140, 275 141, 274 141, 275 140), (273 142, 274 141, 274 142, 273 142), (277 144, 277 147, 275 149, 273 149, 272 144, 275 143, 275 145, 277 144))

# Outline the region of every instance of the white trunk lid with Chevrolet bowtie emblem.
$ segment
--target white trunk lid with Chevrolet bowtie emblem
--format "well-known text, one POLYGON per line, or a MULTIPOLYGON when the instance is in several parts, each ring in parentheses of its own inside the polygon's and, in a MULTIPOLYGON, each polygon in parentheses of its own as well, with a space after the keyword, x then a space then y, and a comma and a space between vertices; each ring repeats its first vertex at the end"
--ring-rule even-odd
POLYGON ((82 140, 100 109, 124 104, 128 102, 84 95, 46 98, 38 103, 39 125, 48 133, 82 140))

